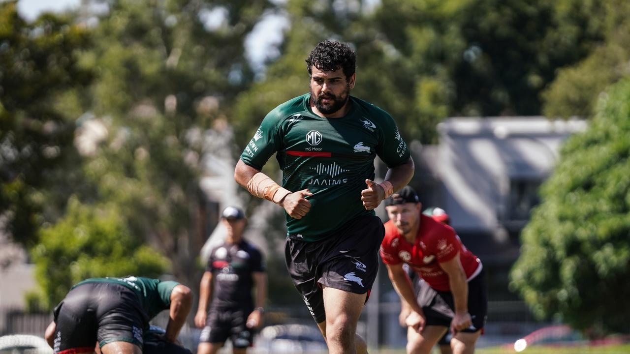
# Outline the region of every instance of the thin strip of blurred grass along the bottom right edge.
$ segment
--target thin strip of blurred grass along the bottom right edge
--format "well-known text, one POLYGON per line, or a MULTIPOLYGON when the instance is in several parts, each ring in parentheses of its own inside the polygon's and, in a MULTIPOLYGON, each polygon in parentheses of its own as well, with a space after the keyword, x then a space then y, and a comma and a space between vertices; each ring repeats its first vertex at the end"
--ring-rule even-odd
MULTIPOLYGON (((370 353, 378 354, 404 354, 404 350, 381 350, 370 351, 370 353)), ((433 350, 433 353, 438 353, 433 350)), ((495 346, 491 348, 479 348, 475 350, 476 354, 515 354, 513 348, 506 346, 495 346)), ((606 345, 606 346, 531 346, 522 354, 629 354, 630 344, 625 345, 606 345)))

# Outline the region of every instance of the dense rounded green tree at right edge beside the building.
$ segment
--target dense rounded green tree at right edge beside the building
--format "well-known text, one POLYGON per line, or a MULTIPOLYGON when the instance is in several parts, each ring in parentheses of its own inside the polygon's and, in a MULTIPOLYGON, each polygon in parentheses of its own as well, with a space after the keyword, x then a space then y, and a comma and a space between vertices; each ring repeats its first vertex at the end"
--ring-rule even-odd
POLYGON ((597 334, 629 333, 630 80, 600 99, 561 149, 522 233, 510 283, 534 313, 597 334))

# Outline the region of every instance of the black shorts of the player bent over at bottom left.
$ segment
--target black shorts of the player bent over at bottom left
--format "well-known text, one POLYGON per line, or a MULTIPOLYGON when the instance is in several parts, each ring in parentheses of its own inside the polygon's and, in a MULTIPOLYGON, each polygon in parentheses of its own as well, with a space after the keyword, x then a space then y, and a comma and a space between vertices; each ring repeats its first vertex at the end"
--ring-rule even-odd
POLYGON ((142 348, 148 319, 135 293, 115 283, 85 283, 70 290, 54 310, 54 352, 94 351, 113 341, 142 348))

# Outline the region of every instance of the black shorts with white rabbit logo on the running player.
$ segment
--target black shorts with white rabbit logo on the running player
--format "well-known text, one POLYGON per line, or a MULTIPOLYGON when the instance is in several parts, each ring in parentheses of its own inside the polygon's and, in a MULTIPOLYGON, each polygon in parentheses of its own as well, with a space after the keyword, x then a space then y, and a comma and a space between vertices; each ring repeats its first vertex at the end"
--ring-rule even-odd
MULTIPOLYGON (((379 270, 385 227, 375 216, 350 220, 326 239, 304 242, 289 235, 285 261, 293 283, 316 323, 326 321, 320 284, 369 297, 379 270)), ((367 301, 367 299, 365 299, 367 301)))

